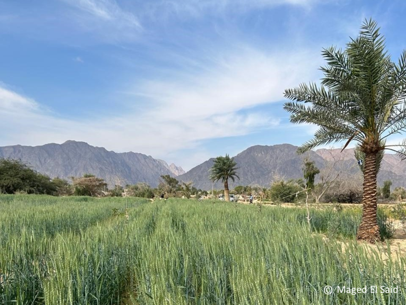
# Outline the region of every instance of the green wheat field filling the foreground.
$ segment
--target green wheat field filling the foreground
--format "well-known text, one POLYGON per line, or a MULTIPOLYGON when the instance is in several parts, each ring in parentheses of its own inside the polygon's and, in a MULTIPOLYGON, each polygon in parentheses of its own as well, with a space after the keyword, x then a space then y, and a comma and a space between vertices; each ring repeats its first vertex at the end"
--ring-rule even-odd
POLYGON ((355 242, 360 209, 312 209, 311 232, 306 216, 210 200, 2 195, 0 303, 406 304, 406 259, 355 242), (334 291, 374 285, 398 292, 334 291))

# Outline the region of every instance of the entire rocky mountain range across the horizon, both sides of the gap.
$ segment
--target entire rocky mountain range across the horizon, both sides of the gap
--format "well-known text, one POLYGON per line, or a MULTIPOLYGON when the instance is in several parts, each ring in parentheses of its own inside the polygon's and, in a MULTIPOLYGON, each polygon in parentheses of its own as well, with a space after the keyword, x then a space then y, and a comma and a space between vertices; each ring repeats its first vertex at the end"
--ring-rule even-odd
MULTIPOLYGON (((238 185, 269 187, 276 179, 301 178, 304 158, 315 161, 322 171, 334 163, 332 171, 341 171, 344 179, 360 174, 353 149, 345 149, 343 152, 341 149, 318 149, 304 155, 297 155, 296 149, 297 146, 291 144, 256 145, 247 148, 234 157, 239 167, 240 179, 229 181, 230 188, 238 185)), ((34 147, 4 146, 0 147, 1 157, 20 159, 50 177, 69 179, 72 176, 92 173, 106 179, 109 186, 147 182, 156 187, 161 175, 171 175, 179 181, 192 182, 198 189, 223 188, 221 182, 213 184, 209 180, 214 158, 185 173, 181 167, 168 165, 165 161, 151 156, 132 152, 115 153, 103 147, 76 141, 34 147)), ((316 176, 316 182, 319 176, 316 176)), ((406 161, 400 161, 396 155, 386 154, 378 174, 378 184, 382 185, 385 180, 393 182, 392 188, 406 187, 406 161)))

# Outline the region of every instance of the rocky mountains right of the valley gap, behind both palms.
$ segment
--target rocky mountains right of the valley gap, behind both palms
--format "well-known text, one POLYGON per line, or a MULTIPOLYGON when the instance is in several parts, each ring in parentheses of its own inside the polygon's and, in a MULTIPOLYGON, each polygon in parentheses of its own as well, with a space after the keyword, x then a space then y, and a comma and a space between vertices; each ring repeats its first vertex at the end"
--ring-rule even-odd
MULTIPOLYGON (((291 144, 279 144, 256 145, 242 151, 234 157, 239 167, 240 179, 236 179, 235 182, 229 181, 230 189, 238 185, 269 187, 270 183, 277 179, 302 178, 304 158, 315 161, 316 166, 324 171, 334 164, 332 172, 342 172, 343 179, 360 174, 353 149, 345 149, 342 153, 341 149, 318 149, 303 155, 297 155, 296 149, 297 146, 291 144)), ((220 182, 213 184, 209 180, 209 170, 213 166, 213 160, 214 158, 209 159, 178 176, 177 179, 184 182, 191 181, 196 188, 202 190, 221 189, 223 186, 220 182)), ((318 179, 319 176, 316 176, 316 182, 318 179)), ((406 187, 406 161, 400 161, 396 155, 386 154, 378 174, 378 185, 382 185, 385 180, 393 182, 392 188, 406 187)))

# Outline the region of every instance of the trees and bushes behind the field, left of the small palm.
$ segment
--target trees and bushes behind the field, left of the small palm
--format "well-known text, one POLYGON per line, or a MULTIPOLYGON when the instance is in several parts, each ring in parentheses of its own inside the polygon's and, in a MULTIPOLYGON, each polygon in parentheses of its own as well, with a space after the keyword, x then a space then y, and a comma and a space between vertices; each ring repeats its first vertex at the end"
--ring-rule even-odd
POLYGON ((93 174, 82 177, 71 177, 72 183, 59 177, 51 179, 41 174, 20 160, 0 158, 0 194, 46 194, 54 196, 127 196, 154 197, 184 197, 204 196, 207 191, 196 189, 190 183, 179 182, 170 175, 162 175, 157 188, 151 188, 145 182, 126 185, 123 188, 116 185, 108 189, 103 178, 93 174))

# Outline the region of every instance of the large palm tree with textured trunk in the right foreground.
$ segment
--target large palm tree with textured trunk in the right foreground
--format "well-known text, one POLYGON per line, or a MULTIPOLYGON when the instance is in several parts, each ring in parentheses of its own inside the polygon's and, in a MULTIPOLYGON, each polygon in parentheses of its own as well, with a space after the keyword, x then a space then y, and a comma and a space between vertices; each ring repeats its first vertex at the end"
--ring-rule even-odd
MULTIPOLYGON (((380 239, 377 222, 377 173, 384 149, 406 159, 406 141, 386 145, 386 139, 406 129, 406 51, 398 63, 385 50, 385 39, 374 20, 365 20, 359 36, 345 50, 323 49, 321 85, 300 84, 285 90, 284 104, 292 123, 318 125, 314 138, 299 147, 303 153, 318 145, 354 141, 364 156, 363 212, 357 238, 380 239), (305 105, 309 103, 309 105, 305 105)), ((343 148, 343 149, 344 149, 343 148)))

